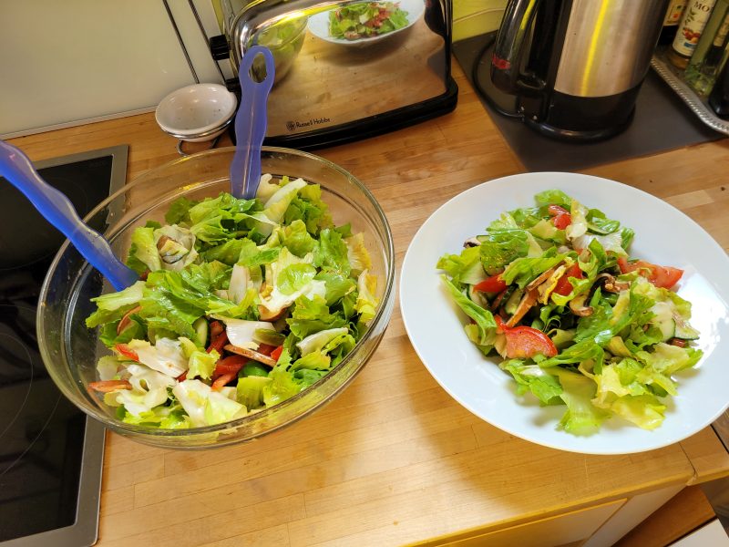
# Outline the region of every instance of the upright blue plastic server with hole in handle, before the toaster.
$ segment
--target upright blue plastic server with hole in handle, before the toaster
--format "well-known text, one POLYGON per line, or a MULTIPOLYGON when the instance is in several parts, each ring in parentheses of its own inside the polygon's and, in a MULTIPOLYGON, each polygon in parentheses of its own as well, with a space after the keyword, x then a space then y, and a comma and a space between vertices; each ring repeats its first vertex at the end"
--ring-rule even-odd
POLYGON ((273 86, 273 55, 267 47, 252 46, 241 59, 241 106, 235 115, 235 152, 231 161, 231 194, 252 200, 261 181, 261 146, 266 136, 266 105, 273 86), (261 82, 251 78, 253 60, 259 55, 266 63, 266 77, 261 82))

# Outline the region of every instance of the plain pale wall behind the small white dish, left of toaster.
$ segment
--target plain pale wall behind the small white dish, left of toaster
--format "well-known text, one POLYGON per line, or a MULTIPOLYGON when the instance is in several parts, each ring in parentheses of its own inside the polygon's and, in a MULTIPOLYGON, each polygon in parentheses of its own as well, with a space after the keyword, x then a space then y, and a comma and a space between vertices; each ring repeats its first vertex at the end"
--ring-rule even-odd
MULTIPOLYGON (((210 0, 195 4, 219 34, 210 0)), ((221 80, 188 0, 169 0, 201 81, 221 80)), ((0 0, 0 138, 153 110, 194 83, 161 0, 0 0)))

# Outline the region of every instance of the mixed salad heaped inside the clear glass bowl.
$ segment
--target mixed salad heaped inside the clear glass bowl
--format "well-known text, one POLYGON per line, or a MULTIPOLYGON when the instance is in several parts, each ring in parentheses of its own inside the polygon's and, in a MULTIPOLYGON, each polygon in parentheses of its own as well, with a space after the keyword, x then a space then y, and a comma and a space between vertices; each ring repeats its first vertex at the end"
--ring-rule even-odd
POLYGON ((87 317, 113 354, 89 388, 119 419, 192 428, 241 418, 325 376, 377 306, 362 233, 318 185, 263 175, 256 199, 180 198, 131 236, 140 280, 87 317))

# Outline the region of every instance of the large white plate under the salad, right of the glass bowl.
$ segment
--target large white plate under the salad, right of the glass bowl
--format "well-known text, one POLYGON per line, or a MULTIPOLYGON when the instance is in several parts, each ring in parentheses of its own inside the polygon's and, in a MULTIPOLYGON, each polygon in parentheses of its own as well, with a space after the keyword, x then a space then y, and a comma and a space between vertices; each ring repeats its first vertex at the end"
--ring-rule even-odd
POLYGON ((665 201, 615 181, 575 173, 527 173, 484 182, 434 212, 416 233, 400 276, 400 307, 417 355, 436 381, 479 418, 555 449, 625 454, 658 449, 711 424, 729 406, 729 257, 690 218, 665 201), (635 230, 631 256, 683 268, 678 294, 693 304, 704 355, 676 375, 678 396, 666 399, 662 426, 646 431, 611 418, 599 433, 575 437, 557 424, 565 407, 539 407, 516 395, 497 358, 484 357, 463 330, 466 316, 446 293, 438 258, 460 253, 501 212, 532 206, 539 191, 557 188, 635 230))

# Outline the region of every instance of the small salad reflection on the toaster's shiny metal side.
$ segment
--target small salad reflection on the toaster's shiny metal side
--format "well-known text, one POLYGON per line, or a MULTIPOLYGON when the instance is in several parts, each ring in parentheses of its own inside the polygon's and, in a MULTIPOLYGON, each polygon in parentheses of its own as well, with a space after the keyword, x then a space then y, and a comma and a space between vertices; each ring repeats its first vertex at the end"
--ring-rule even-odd
POLYGON ((331 11, 329 34, 334 38, 358 40, 393 32, 407 23, 407 12, 397 2, 363 2, 331 11))

